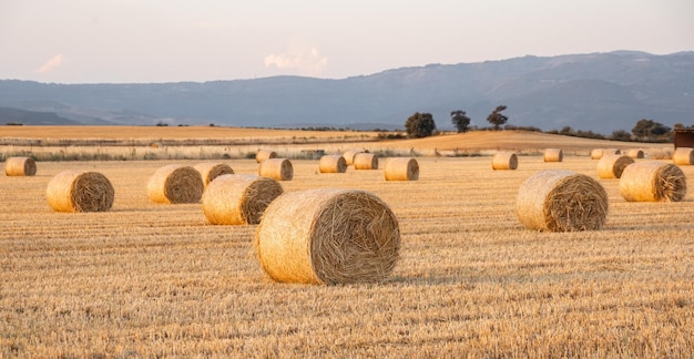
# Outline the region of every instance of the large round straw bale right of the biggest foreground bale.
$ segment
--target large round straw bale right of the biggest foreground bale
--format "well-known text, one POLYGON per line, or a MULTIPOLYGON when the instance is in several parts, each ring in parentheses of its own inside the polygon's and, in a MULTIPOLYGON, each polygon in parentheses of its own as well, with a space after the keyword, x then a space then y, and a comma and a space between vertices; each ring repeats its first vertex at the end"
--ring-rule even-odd
POLYGON ((608 218, 608 193, 598 181, 584 174, 542 171, 521 185, 516 214, 529 229, 595 230, 608 218))

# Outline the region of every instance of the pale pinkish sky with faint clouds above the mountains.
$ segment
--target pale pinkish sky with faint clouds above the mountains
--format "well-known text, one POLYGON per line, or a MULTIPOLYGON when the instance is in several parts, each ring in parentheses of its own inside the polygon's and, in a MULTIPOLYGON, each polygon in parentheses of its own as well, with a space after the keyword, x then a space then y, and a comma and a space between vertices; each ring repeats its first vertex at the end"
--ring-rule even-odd
POLYGON ((0 79, 345 79, 524 55, 694 51, 692 0, 0 0, 0 79))

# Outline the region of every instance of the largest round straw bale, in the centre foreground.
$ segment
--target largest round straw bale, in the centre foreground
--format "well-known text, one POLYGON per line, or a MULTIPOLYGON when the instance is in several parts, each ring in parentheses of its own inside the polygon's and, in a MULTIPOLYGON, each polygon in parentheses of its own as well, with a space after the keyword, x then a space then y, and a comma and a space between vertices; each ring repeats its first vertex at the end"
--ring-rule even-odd
POLYGON ((265 211, 254 247, 276 281, 378 283, 398 261, 400 230, 388 205, 368 192, 288 192, 265 211))

